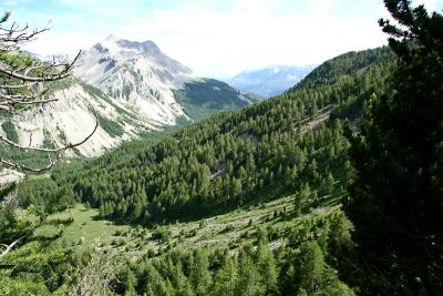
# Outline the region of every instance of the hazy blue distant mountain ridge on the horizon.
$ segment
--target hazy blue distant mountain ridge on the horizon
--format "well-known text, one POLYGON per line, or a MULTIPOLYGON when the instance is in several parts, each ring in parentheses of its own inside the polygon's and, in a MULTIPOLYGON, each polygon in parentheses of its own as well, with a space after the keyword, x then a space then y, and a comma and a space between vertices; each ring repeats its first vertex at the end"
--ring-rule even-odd
POLYGON ((270 98, 292 88, 316 67, 269 65, 258 70, 246 70, 225 81, 241 91, 270 98))

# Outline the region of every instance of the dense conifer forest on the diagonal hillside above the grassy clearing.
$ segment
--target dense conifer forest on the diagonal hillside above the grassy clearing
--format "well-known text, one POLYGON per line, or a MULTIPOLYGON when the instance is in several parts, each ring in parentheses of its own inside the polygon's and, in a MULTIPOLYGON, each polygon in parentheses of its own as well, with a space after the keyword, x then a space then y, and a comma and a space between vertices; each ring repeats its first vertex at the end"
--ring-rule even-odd
MULTIPOLYGON (((54 171, 48 183, 70 186, 73 197, 99 207, 103 217, 144 225, 288 193, 306 192, 303 203, 342 192, 351 173, 342 120, 358 118, 365 99, 384 88, 392 61, 388 48, 341 55, 268 102, 157 143, 126 145, 74 173, 54 171)), ((39 191, 21 187, 28 204, 39 202, 39 191)))

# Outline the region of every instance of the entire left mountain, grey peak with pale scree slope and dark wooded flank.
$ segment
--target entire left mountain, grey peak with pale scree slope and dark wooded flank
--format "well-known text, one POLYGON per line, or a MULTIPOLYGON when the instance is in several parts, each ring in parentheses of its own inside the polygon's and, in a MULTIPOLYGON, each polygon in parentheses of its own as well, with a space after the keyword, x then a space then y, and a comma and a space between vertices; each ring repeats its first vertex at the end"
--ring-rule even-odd
MULTIPOLYGON (((48 85, 49 98, 56 102, 25 112, 17 121, 20 124, 13 129, 20 144, 76 143, 92 130, 97 115, 97 132, 74 152, 93 156, 122 141, 254 102, 224 82, 196 76, 152 41, 110 35, 81 53, 74 75, 48 85)), ((7 135, 2 129, 0 133, 7 135)))

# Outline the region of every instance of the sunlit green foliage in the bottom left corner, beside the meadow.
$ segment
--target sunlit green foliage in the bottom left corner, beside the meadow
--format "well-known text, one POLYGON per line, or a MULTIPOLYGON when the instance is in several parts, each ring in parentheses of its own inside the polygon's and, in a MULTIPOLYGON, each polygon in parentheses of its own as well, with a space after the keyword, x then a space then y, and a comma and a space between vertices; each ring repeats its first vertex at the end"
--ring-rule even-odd
POLYGON ((63 283, 71 257, 69 251, 53 249, 50 245, 60 232, 52 237, 40 237, 33 231, 42 225, 62 229, 72 220, 47 220, 56 208, 56 198, 47 202, 47 207, 41 211, 32 211, 32 207, 19 211, 16 190, 16 184, 0 190, 0 294, 49 295, 63 283), (33 220, 29 218, 30 214, 34 215, 33 220))

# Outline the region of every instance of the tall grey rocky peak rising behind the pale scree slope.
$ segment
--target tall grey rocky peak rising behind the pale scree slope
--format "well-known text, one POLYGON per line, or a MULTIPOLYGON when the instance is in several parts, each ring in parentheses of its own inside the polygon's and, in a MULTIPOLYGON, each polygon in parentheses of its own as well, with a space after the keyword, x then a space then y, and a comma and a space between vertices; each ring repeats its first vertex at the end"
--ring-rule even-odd
POLYGON ((189 99, 187 102, 195 106, 205 108, 202 102, 208 102, 210 111, 207 115, 250 103, 244 94, 233 95, 227 85, 214 86, 214 80, 196 76, 189 68, 165 55, 152 41, 141 43, 110 35, 81 54, 75 75, 131 105, 138 115, 157 125, 174 125, 178 119, 190 119, 177 102, 178 93, 182 101, 189 99), (187 90, 195 89, 194 85, 199 86, 199 92, 187 98, 187 90), (217 98, 217 104, 212 108, 214 98, 217 98))

